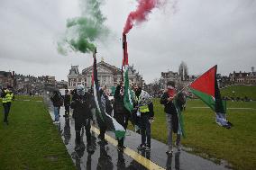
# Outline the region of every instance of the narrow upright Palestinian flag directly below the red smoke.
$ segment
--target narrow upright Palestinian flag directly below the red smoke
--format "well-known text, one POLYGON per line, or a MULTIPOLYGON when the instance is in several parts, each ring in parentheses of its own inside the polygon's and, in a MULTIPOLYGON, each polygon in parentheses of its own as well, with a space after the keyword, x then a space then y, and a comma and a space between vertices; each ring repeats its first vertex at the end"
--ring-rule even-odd
POLYGON ((129 111, 133 111, 133 93, 129 87, 129 77, 128 77, 128 53, 127 53, 127 42, 126 35, 123 34, 123 67, 124 67, 124 95, 123 103, 124 107, 129 111))

